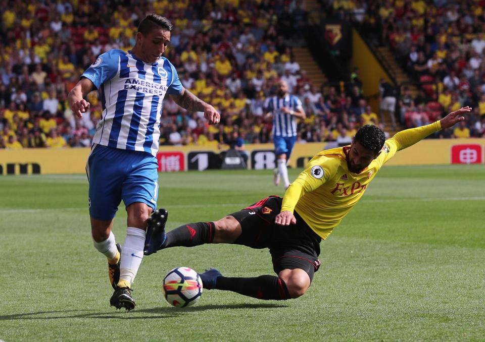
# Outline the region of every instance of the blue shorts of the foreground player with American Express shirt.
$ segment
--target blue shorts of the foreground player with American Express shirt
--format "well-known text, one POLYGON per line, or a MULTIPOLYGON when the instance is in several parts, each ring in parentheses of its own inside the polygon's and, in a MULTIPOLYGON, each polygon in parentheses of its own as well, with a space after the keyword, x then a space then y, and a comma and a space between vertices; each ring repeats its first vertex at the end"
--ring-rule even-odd
POLYGON ((94 145, 87 159, 89 215, 110 220, 121 200, 125 207, 135 202, 157 207, 157 158, 147 152, 94 145))

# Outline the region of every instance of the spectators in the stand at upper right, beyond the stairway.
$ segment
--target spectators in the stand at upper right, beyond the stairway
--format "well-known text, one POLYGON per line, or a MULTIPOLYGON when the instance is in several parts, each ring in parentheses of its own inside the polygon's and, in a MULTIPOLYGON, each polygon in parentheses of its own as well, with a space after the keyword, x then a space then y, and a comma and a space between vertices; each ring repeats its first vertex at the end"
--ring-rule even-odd
POLYGON ((419 86, 397 99, 407 127, 437 120, 462 106, 466 121, 437 137, 485 136, 485 1, 333 0, 332 16, 353 21, 376 44, 389 46, 419 86))

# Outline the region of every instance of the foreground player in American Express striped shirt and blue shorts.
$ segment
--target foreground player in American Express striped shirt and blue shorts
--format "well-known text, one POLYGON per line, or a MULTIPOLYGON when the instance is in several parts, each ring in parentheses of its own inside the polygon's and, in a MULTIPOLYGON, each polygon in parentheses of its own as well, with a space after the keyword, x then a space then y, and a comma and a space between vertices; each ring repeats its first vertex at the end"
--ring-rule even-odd
POLYGON ((135 306, 131 285, 143 258, 148 219, 157 206, 156 154, 164 96, 169 94, 187 110, 203 111, 211 125, 220 120, 213 106, 183 88, 173 65, 162 57, 171 31, 168 19, 148 15, 138 26, 132 50, 101 54, 69 93, 79 118, 89 109, 83 98, 94 89, 101 95, 103 118, 86 164, 89 215, 94 247, 108 258, 115 289, 110 304, 118 309, 135 306), (121 200, 128 213, 123 248, 111 232, 121 200))

